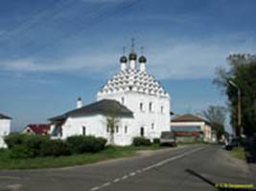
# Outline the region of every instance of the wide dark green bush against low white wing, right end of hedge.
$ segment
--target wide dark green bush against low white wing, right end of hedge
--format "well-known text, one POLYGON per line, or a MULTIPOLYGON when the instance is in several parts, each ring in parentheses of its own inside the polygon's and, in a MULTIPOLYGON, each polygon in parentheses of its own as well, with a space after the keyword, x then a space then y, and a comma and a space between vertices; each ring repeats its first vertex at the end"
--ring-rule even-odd
POLYGON ((72 153, 96 153, 105 148, 105 138, 73 136, 67 138, 72 153))

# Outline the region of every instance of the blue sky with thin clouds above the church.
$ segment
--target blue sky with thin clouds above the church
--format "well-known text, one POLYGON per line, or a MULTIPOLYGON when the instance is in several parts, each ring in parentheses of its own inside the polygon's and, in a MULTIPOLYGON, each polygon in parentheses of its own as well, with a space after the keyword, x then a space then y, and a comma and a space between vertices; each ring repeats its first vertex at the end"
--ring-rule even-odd
POLYGON ((148 70, 177 114, 224 105, 212 84, 229 53, 255 53, 253 0, 1 0, 0 112, 12 128, 95 100, 122 47, 145 47, 148 70))

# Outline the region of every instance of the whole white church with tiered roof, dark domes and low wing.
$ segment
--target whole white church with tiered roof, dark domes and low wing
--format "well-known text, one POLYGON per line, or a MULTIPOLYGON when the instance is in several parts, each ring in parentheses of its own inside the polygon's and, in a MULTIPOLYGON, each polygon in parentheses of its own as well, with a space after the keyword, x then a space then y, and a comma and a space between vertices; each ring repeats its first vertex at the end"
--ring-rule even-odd
POLYGON ((53 137, 67 138, 74 135, 103 137, 110 141, 106 118, 109 111, 118 114, 114 144, 129 145, 134 137, 160 138, 163 131, 170 131, 170 95, 147 72, 147 59, 137 59, 134 45, 128 57, 120 58, 121 70, 114 74, 98 92, 97 101, 50 118, 53 137))

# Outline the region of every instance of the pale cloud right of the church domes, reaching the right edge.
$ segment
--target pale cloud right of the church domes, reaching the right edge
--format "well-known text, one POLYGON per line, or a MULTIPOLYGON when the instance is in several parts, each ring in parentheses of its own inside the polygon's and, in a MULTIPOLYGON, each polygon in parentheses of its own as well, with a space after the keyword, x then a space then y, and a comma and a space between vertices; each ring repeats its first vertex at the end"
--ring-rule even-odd
POLYGON ((151 72, 160 78, 212 77, 217 67, 226 67, 229 53, 255 53, 253 40, 224 44, 217 42, 183 42, 153 49, 151 72))

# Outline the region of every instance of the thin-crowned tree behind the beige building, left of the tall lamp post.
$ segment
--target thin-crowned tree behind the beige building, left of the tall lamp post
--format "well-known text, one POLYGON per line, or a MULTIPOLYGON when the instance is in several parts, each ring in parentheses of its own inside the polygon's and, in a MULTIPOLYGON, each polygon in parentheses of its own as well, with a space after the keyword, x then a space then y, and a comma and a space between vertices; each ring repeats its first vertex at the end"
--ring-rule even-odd
POLYGON ((220 140, 224 134, 226 109, 222 106, 209 106, 201 114, 210 122, 211 127, 216 132, 217 139, 220 140))

